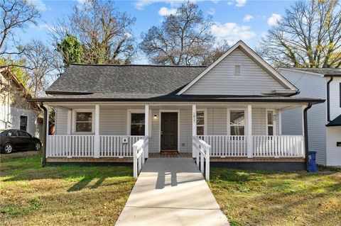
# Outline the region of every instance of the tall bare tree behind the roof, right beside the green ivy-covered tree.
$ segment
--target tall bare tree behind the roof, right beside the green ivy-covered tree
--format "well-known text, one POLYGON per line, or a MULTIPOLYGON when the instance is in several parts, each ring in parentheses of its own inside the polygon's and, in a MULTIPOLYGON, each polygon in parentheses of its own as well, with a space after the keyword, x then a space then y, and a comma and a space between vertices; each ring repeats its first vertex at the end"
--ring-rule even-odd
POLYGON ((135 18, 119 13, 112 1, 87 0, 58 21, 51 33, 55 45, 72 35, 82 45, 82 62, 129 64, 134 55, 131 26, 135 18))

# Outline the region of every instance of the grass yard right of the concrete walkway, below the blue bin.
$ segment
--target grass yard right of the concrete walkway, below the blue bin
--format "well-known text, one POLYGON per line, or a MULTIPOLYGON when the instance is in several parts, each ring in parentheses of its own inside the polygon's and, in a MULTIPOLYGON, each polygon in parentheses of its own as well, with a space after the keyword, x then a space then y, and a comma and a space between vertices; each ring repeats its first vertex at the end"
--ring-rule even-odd
POLYGON ((211 168, 210 188, 231 225, 341 225, 341 170, 211 168))

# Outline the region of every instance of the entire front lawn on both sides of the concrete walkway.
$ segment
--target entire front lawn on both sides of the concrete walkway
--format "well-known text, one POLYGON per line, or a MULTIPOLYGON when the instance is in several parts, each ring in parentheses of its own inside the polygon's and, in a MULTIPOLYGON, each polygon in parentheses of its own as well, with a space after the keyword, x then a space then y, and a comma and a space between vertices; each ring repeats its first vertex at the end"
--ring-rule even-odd
MULTIPOLYGON (((40 167, 36 152, 1 154, 0 225, 114 225, 134 186, 131 166, 40 167)), ((231 225, 341 225, 341 171, 211 168, 231 225)))

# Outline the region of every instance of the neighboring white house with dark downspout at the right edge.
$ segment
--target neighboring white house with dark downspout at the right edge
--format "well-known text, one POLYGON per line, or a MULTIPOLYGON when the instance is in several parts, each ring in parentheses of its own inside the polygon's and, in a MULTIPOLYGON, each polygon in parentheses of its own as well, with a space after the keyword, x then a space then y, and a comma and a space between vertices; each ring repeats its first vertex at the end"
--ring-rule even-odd
MULTIPOLYGON (((300 94, 296 96, 326 100, 309 110, 309 150, 318 152, 318 164, 341 166, 341 69, 280 68, 278 71, 298 87, 300 94)), ((283 134, 302 135, 301 108, 283 111, 282 119, 283 134)))

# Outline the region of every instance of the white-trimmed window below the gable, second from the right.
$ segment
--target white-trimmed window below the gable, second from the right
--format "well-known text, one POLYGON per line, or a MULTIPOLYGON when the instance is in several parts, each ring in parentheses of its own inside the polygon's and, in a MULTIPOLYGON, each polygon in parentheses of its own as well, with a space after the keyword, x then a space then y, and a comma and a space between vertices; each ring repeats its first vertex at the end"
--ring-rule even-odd
POLYGON ((229 111, 229 131, 230 135, 245 135, 245 111, 232 110, 229 111))

